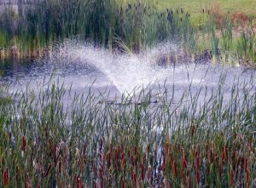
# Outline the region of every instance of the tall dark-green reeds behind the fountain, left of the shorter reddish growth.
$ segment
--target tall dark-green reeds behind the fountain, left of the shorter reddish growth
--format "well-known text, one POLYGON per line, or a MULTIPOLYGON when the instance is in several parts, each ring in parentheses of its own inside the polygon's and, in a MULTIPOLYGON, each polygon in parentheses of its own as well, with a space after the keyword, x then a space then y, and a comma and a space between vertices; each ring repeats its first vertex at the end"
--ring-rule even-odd
POLYGON ((14 16, 9 11, 2 13, 1 34, 8 36, 9 45, 13 45, 9 40, 18 36, 21 51, 73 36, 108 47, 121 40, 133 51, 168 39, 183 39, 183 42, 193 39, 189 14, 183 9, 160 12, 154 4, 144 1, 133 4, 110 0, 35 1, 17 18, 14 31, 11 31, 14 16))

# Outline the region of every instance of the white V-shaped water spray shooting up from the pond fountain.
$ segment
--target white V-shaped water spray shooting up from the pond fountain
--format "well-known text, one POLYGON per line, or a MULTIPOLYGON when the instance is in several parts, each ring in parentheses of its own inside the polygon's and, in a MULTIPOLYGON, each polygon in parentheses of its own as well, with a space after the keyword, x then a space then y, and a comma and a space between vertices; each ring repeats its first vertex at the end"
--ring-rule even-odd
POLYGON ((177 45, 161 43, 160 46, 141 54, 113 53, 106 48, 96 48, 88 43, 72 45, 66 49, 68 51, 63 53, 66 59, 95 66, 108 77, 121 94, 130 94, 135 88, 164 82, 172 75, 173 67, 156 66, 156 62, 163 55, 176 53, 177 45))

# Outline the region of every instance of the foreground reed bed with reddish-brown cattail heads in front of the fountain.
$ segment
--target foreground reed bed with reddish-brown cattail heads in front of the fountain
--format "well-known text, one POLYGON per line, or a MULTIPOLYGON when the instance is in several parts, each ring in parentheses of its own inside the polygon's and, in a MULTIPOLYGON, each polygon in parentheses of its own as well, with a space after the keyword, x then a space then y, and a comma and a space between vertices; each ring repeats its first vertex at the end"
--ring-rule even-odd
POLYGON ((177 101, 172 87, 118 102, 57 82, 11 95, 2 86, 1 186, 253 187, 255 85, 237 79, 227 96, 224 81, 177 101))

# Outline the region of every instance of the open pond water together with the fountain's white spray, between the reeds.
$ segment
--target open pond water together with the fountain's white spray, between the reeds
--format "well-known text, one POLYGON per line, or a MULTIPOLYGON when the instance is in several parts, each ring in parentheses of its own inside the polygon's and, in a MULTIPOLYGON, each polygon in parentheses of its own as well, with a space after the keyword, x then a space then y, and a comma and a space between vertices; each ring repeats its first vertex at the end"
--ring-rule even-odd
MULTIPOLYGON (((57 48, 51 58, 35 60, 31 66, 20 66, 5 79, 10 91, 24 90, 29 81, 30 88, 42 87, 44 80, 59 79, 68 89, 72 85, 73 94, 86 93, 88 88, 102 92, 108 87, 110 97, 137 93, 142 88, 165 88, 180 97, 184 90, 192 92, 200 88, 217 89, 219 78, 225 75, 224 90, 229 96, 234 82, 255 83, 255 70, 242 67, 212 66, 205 64, 160 65, 160 60, 168 54, 178 54, 180 48, 173 43, 160 43, 140 54, 111 52, 107 48, 97 48, 90 43, 68 41, 57 48)), ((252 83, 250 83, 253 87, 252 83)))

